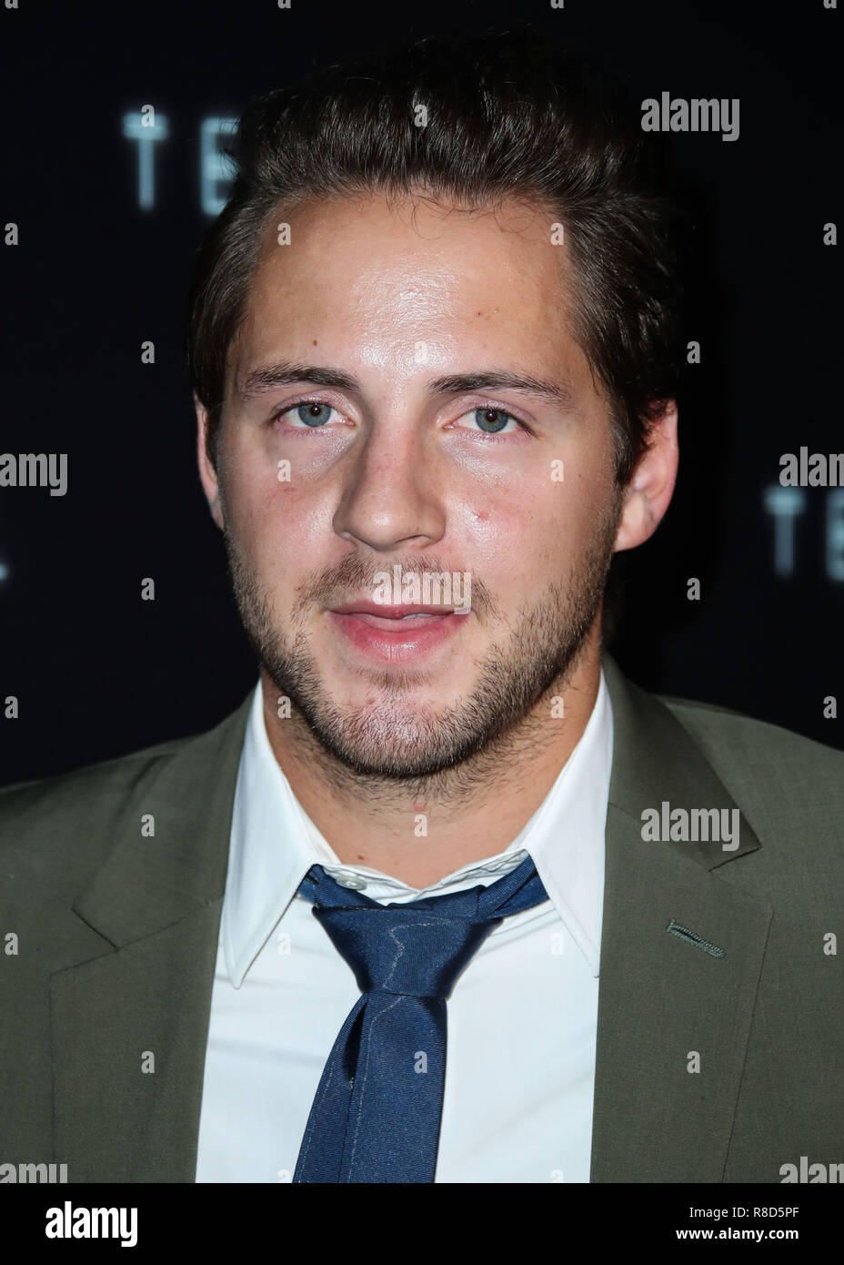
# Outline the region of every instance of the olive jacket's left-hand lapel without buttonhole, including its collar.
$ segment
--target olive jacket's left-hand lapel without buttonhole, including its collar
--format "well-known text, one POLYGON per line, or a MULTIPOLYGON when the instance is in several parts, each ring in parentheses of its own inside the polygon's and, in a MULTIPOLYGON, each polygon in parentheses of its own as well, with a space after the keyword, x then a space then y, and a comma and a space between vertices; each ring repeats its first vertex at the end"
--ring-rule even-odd
POLYGON ((51 979, 54 1152, 71 1182, 193 1182, 249 696, 150 762, 73 912, 104 954, 51 979), (155 834, 142 835, 142 818, 155 834))

